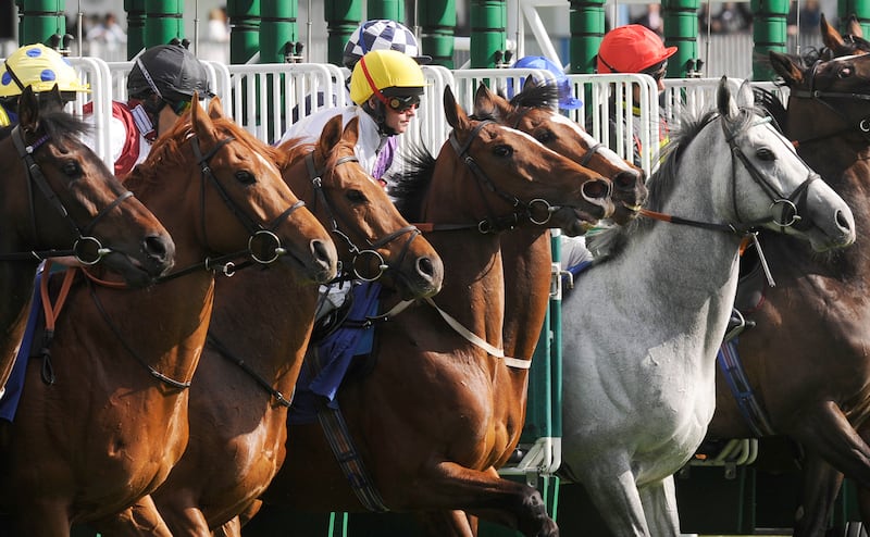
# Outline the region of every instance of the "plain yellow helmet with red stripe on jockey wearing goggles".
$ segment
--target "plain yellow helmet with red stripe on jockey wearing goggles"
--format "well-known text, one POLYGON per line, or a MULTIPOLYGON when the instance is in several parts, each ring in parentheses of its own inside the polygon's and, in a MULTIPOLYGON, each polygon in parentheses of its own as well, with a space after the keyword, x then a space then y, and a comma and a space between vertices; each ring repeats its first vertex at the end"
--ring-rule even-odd
POLYGON ((423 95, 426 78, 413 58, 396 50, 373 50, 363 55, 350 75, 350 99, 362 104, 372 96, 382 102, 387 97, 423 95))

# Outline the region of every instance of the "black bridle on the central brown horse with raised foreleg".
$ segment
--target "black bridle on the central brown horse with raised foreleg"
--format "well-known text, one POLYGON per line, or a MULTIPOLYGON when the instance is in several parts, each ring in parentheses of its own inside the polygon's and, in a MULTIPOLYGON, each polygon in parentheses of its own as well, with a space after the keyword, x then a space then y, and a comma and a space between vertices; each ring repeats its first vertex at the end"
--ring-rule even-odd
MULTIPOLYGON (((547 224, 550 221, 550 216, 552 215, 552 213, 559 211, 566 205, 551 205, 549 201, 542 198, 535 198, 529 202, 521 201, 517 196, 513 196, 512 193, 506 192, 505 190, 498 188, 496 184, 493 183, 493 180, 489 178, 489 176, 486 175, 486 172, 484 172, 483 168, 481 168, 481 166, 474 160, 474 157, 472 157, 469 153, 469 148, 471 147, 471 143, 475 140, 475 138, 477 138, 477 136, 480 136, 481 130, 483 130, 483 128, 489 124, 498 125, 498 123, 496 123, 493 120, 481 120, 474 126, 471 134, 463 143, 460 143, 459 139, 457 138, 456 129, 453 129, 449 136, 450 146, 452 146, 453 150, 457 153, 457 157, 461 159, 462 162, 465 163, 469 170, 471 170, 474 177, 477 179, 477 190, 481 193, 481 198, 483 199, 484 204, 486 205, 486 211, 489 213, 488 217, 477 222, 476 224, 477 230, 482 234, 489 234, 505 229, 512 229, 517 227, 517 225, 519 225, 521 222, 526 220, 536 225, 547 224), (513 212, 505 216, 496 216, 492 207, 487 202, 484 188, 488 189, 490 192, 495 193, 496 196, 508 202, 508 204, 510 204, 513 208, 513 212), (535 214, 539 214, 535 210, 538 207, 542 208, 540 212, 543 212, 543 214, 546 214, 544 218, 535 216, 535 214)), ((581 187, 581 191, 583 193, 584 199, 586 199, 592 203, 596 197, 586 192, 586 186, 587 184, 584 183, 581 187)), ((608 191, 606 197, 609 198, 612 195, 612 191, 613 191, 613 185, 608 183, 608 191)), ((459 229, 467 227, 469 226, 461 226, 461 225, 450 226, 450 227, 437 226, 438 229, 446 229, 446 228, 459 229)))

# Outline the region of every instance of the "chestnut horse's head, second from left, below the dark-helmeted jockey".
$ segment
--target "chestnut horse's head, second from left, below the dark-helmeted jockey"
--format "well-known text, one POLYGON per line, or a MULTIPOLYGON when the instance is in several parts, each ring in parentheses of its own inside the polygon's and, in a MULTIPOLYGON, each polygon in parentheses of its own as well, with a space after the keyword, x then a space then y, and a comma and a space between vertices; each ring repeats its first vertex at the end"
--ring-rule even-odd
POLYGON ((284 183, 274 149, 225 117, 219 98, 207 112, 194 97, 189 115, 162 135, 149 154, 151 183, 178 190, 156 196, 154 203, 166 200, 172 204, 162 208, 167 214, 198 221, 178 226, 185 232, 177 233, 190 235, 188 243, 261 264, 282 259, 302 277, 332 279, 337 254, 330 234, 284 183), (177 176, 163 177, 167 170, 177 176))

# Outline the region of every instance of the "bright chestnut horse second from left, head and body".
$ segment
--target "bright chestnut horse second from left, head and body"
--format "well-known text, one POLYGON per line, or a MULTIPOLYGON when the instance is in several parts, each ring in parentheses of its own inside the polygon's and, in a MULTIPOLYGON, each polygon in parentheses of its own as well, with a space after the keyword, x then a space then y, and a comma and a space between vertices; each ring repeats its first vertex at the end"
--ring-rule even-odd
MULTIPOLYGON (((53 382, 40 378, 38 361, 28 365, 2 453, 2 502, 17 535, 66 536, 79 522, 99 529, 134 504, 136 524, 153 509, 139 499, 187 445, 187 388, 216 271, 232 273, 239 258, 281 259, 315 282, 335 275, 328 233, 282 180, 271 148, 223 117, 216 99, 209 113, 191 110, 126 179, 171 230, 184 268, 147 290, 79 277, 42 357, 53 382)), ((139 529, 169 535, 162 523, 139 529)))

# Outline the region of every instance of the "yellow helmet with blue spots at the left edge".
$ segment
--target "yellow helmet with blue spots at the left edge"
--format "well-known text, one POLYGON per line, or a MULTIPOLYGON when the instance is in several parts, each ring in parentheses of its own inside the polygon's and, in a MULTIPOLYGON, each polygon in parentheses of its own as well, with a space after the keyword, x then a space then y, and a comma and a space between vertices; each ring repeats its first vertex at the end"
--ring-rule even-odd
POLYGON ((20 96, 27 86, 50 91, 55 84, 61 91, 90 91, 66 59, 42 43, 21 47, 0 65, 0 98, 20 96))

